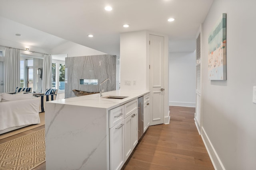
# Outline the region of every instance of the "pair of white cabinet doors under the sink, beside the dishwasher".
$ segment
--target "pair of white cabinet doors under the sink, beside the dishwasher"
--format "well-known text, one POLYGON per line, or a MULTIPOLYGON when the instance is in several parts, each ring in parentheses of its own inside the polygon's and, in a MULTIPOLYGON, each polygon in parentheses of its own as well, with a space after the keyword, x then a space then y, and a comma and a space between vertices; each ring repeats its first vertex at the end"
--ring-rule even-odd
POLYGON ((124 119, 124 160, 126 161, 138 143, 138 109, 124 119))

